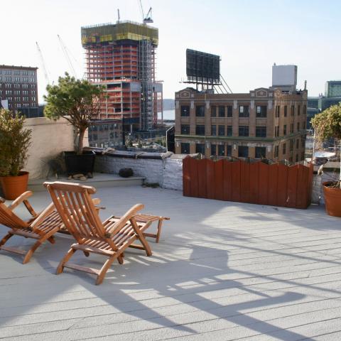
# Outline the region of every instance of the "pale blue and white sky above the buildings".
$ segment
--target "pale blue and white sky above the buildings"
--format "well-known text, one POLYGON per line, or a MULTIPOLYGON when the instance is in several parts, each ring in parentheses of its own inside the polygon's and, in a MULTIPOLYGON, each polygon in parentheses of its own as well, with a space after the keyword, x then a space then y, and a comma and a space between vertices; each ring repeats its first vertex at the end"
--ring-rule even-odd
MULTIPOLYGON (((157 76, 165 98, 185 87, 185 50, 221 56, 221 73, 233 92, 271 85, 271 65, 298 65, 298 87, 324 91, 326 80, 341 79, 341 1, 142 0, 153 7, 159 29, 157 76)), ((1 1, 0 64, 38 66, 41 102, 45 77, 36 50, 40 44, 51 80, 70 67, 57 34, 84 74, 80 26, 117 20, 141 21, 139 0, 1 1)))

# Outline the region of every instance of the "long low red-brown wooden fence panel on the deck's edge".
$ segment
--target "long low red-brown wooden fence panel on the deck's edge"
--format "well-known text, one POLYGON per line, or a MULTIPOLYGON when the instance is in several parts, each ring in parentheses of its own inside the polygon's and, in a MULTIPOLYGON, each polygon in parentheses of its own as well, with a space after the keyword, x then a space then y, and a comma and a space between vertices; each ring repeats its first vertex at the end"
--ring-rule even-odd
POLYGON ((183 195, 188 197, 307 208, 312 185, 311 164, 183 159, 183 195))

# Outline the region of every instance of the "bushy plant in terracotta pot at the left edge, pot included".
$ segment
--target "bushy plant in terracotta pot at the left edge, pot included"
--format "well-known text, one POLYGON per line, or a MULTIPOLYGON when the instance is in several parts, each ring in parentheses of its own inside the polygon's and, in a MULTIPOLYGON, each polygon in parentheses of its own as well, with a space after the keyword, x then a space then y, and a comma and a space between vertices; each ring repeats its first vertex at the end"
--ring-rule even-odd
POLYGON ((16 199, 27 190, 28 172, 21 171, 31 144, 31 129, 24 129, 24 117, 0 109, 0 183, 4 197, 16 199))

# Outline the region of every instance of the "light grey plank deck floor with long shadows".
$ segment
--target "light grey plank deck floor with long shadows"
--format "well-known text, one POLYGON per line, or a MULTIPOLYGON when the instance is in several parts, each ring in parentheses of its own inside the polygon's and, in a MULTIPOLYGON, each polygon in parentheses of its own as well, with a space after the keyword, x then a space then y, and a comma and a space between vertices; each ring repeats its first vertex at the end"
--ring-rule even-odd
MULTIPOLYGON (((323 207, 264 207, 137 186, 97 196, 107 207, 103 217, 136 202, 171 217, 161 242, 151 241, 153 256, 129 250, 95 286, 91 275, 54 274, 72 242, 65 237, 26 265, 1 251, 0 339, 341 340, 341 219, 323 207)), ((32 202, 43 207, 47 193, 32 202)), ((101 256, 81 253, 75 260, 102 264, 101 256)))

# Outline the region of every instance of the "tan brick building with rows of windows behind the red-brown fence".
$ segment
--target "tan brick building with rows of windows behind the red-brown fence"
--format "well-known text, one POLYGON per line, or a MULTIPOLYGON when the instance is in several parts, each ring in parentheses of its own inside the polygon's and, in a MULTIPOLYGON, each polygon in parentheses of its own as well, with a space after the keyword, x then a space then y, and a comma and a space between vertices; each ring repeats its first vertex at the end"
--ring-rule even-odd
POLYGON ((175 92, 175 153, 206 157, 304 159, 307 90, 244 94, 175 92))

